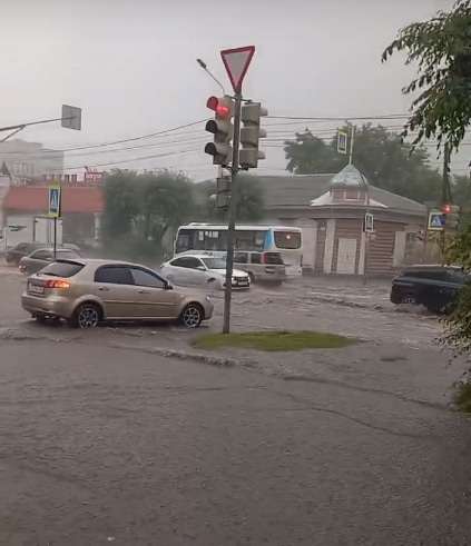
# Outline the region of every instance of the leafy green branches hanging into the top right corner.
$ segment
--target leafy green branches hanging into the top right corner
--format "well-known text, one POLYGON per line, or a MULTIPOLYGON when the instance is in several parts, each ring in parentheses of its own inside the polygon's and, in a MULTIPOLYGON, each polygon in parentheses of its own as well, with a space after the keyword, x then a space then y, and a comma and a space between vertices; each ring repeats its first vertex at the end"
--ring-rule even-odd
POLYGON ((404 135, 416 132, 414 145, 436 138, 458 150, 471 121, 471 0, 458 1, 450 12, 409 24, 385 49, 406 54, 418 77, 403 89, 415 98, 404 135))

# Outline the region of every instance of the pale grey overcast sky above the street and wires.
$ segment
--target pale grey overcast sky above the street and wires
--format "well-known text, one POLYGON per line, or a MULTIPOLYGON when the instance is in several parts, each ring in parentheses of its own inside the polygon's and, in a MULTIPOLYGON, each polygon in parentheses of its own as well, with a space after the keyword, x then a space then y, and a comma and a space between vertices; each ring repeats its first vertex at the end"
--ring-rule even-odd
MULTIPOLYGON (((204 59, 229 88, 222 49, 256 46, 244 95, 271 116, 374 117, 405 113, 401 88, 414 75, 398 57, 380 56, 398 29, 448 10, 453 0, 0 0, 2 126, 82 108, 82 131, 59 123, 21 138, 57 148, 125 140, 208 117, 219 89, 204 59)), ((374 122, 374 120, 372 120, 374 122)), ((335 123, 267 119, 267 159, 259 172, 282 173, 283 140, 335 123)), ((396 120, 387 121, 399 128, 396 120)), ((173 167, 200 180, 214 176, 203 153, 204 122, 166 135, 67 155, 69 172, 173 167), (121 149, 120 151, 117 149, 121 149), (151 156, 149 158, 149 156, 151 156), (147 158, 147 159, 141 159, 147 158)), ((463 146, 467 150, 467 145, 463 146)), ((455 162, 464 173, 468 151, 455 162)))

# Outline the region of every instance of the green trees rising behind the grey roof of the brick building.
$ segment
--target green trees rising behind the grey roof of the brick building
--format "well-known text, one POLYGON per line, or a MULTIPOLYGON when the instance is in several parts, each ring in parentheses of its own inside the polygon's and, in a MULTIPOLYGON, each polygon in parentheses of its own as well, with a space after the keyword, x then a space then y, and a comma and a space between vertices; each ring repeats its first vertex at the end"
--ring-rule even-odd
MULTIPOLYGON (((342 130, 350 132, 347 127, 342 130)), ((440 201, 441 176, 429 165, 424 147, 404 145, 400 133, 371 123, 355 131, 353 163, 370 182, 419 202, 440 201)), ((336 137, 324 141, 311 131, 285 142, 287 170, 296 175, 336 173, 349 158, 337 152, 336 137)))

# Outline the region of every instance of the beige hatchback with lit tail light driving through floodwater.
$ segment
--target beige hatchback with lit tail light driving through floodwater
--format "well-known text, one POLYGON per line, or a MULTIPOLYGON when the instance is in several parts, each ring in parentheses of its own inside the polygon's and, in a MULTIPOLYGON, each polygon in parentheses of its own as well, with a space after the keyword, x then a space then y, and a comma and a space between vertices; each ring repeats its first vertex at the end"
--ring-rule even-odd
POLYGON ((66 319, 77 328, 107 320, 178 321, 198 327, 213 316, 206 295, 178 288, 138 264, 59 259, 28 278, 22 308, 39 321, 66 319))

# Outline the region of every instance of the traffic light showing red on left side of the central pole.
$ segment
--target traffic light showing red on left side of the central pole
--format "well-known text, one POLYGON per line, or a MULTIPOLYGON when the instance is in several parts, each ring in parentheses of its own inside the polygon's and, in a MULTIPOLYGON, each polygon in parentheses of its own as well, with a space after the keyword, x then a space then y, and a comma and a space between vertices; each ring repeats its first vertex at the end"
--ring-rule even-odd
POLYGON ((213 165, 228 165, 233 151, 230 141, 234 138, 234 99, 227 96, 209 97, 206 107, 214 111, 214 119, 207 121, 205 130, 214 135, 214 139, 205 146, 205 153, 213 156, 213 165))

